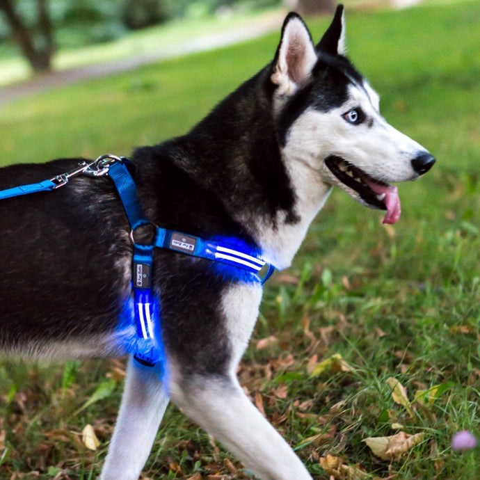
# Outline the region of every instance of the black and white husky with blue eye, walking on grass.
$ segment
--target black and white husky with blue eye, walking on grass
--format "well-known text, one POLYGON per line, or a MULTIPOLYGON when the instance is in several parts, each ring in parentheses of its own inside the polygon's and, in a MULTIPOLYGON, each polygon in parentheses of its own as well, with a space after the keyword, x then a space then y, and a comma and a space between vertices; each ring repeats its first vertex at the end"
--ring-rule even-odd
MULTIPOLYGON (((278 269, 291 264, 332 186, 396 222, 390 183, 416 179, 435 159, 384 120, 378 95, 344 54, 342 6, 317 46, 289 14, 272 63, 189 134, 135 150, 147 218, 230 239, 278 269)), ((0 188, 78 162, 9 166, 0 188)), ((131 353, 136 328, 122 306, 131 297, 129 224, 112 182, 79 176, 55 192, 2 200, 0 218, 3 352, 50 360, 131 353)), ((103 480, 138 479, 169 400, 258 477, 312 478, 237 381, 262 285, 235 270, 155 249, 165 358, 161 367, 129 361, 103 480)))

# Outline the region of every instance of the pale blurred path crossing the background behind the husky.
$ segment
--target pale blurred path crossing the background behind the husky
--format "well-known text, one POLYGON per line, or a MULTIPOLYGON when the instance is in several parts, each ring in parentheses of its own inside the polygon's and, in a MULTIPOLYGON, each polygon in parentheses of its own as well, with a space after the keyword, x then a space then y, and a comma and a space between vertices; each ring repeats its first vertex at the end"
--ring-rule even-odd
POLYGON ((59 86, 69 85, 76 81, 106 77, 108 75, 134 70, 147 63, 158 62, 166 58, 173 58, 198 51, 207 51, 218 47, 233 45, 237 42, 250 40, 269 33, 273 30, 279 30, 282 25, 285 13, 274 12, 267 17, 252 20, 250 24, 241 26, 241 28, 232 29, 224 33, 212 33, 208 36, 202 36, 187 40, 177 45, 166 45, 159 47, 157 51, 147 54, 131 56, 121 60, 105 63, 96 63, 85 67, 71 68, 45 74, 42 77, 36 77, 29 81, 15 83, 11 86, 0 88, 0 106, 12 102, 13 100, 26 95, 35 95, 59 86))

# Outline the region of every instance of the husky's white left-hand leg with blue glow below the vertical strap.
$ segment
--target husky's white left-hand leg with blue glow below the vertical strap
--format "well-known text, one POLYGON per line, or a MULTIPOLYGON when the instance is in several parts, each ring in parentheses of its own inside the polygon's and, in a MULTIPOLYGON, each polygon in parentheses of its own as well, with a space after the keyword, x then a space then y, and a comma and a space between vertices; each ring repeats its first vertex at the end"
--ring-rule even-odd
POLYGON ((157 369, 130 358, 117 423, 100 480, 138 480, 168 405, 157 369))

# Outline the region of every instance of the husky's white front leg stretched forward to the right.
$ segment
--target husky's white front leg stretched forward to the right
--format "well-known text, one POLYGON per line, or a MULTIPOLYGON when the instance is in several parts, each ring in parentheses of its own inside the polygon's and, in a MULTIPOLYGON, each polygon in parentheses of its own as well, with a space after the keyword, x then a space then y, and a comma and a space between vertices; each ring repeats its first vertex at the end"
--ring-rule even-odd
POLYGON ((243 393, 237 378, 172 379, 172 401, 263 480, 312 480, 287 442, 243 393))

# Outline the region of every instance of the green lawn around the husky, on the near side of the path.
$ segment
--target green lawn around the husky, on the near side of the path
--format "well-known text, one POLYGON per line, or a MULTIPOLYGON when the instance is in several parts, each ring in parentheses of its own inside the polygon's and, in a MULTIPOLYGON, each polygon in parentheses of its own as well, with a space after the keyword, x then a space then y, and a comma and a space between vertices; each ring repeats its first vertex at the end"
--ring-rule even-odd
MULTIPOLYGON (((326 455, 359 465, 371 474, 365 478, 480 476, 479 451, 449 449, 458 430, 480 436, 479 23, 478 2, 347 15, 351 58, 381 93, 383 114, 429 147, 438 163, 418 182, 399 185, 403 213, 395 227, 335 191, 294 266, 266 287, 239 377, 315 479, 334 475, 321 467, 326 455), (258 349, 258 340, 271 335, 271 344, 258 349), (335 354, 346 371, 337 360, 309 373, 335 354), (412 415, 392 399, 390 377, 406 387, 412 415), (435 385, 441 385, 436 394, 414 401, 435 385), (362 442, 399 430, 425 437, 394 461, 374 456, 362 442)), ((318 37, 326 20, 309 24, 318 37)), ((134 145, 181 134, 268 62, 277 40, 269 35, 8 104, 0 111, 1 161, 128 154, 134 145)), ((0 479, 13 472, 95 478, 123 365, 47 369, 3 362, 0 479), (105 390, 113 386, 106 376, 115 380, 113 390, 105 390), (106 397, 74 415, 99 385, 106 397), (97 452, 84 451, 79 440, 88 423, 102 441, 97 452)), ((195 472, 206 478, 216 471, 239 478, 227 477, 225 458, 239 468, 169 408, 145 478, 189 479, 195 472)), ((357 471, 354 478, 363 477, 357 471)))

